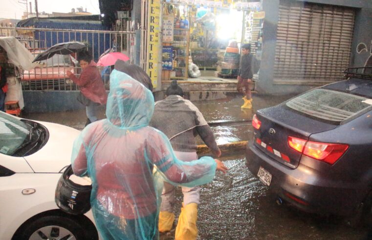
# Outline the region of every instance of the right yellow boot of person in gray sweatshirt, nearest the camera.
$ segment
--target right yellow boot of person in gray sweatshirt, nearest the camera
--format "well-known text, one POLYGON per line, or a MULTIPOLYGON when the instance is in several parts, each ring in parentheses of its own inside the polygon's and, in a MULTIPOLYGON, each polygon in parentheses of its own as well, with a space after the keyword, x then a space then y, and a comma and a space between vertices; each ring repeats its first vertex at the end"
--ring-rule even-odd
POLYGON ((175 228, 175 240, 197 239, 197 204, 189 203, 181 208, 175 228))

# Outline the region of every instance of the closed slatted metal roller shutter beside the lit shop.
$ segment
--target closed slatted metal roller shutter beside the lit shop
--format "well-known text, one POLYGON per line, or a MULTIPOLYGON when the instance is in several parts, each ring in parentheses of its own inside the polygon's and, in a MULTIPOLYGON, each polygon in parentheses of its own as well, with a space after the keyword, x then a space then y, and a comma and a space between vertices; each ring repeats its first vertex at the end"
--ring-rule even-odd
POLYGON ((354 10, 280 1, 274 83, 324 84, 350 64, 354 10))

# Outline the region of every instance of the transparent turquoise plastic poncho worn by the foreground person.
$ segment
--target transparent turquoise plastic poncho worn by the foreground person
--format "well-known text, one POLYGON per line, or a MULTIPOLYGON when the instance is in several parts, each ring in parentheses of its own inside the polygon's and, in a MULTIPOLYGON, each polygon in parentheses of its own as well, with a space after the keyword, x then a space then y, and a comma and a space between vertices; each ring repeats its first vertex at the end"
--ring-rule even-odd
POLYGON ((105 240, 158 239, 163 181, 194 187, 215 176, 211 157, 176 159, 168 138, 148 126, 153 109, 144 85, 113 70, 107 119, 89 124, 74 142, 72 168, 92 180, 90 203, 105 240))

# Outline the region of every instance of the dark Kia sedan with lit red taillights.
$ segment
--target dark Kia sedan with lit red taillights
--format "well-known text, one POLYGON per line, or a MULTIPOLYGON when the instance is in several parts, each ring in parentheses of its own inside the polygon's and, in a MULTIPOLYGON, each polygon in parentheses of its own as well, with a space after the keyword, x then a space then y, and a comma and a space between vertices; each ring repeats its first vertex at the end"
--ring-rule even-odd
MULTIPOLYGON (((372 75, 310 90, 258 110, 246 165, 307 212, 372 222, 372 75)), ((363 71, 366 71, 365 69, 363 71)))

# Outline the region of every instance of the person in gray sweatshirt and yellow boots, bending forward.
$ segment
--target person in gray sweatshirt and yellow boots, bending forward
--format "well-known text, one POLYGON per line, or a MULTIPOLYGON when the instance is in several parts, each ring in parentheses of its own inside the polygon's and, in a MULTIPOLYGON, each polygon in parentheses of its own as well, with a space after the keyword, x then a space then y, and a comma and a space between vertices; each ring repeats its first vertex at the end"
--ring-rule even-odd
MULTIPOLYGON (((197 159, 197 135, 212 150, 215 157, 221 155, 213 132, 197 107, 183 99, 183 91, 174 80, 166 91, 166 98, 155 102, 155 110, 150 126, 162 131, 170 140, 175 156, 182 161, 197 159)), ((225 172, 227 168, 223 172, 225 172)), ((199 187, 182 187, 183 207, 175 230, 175 240, 197 239, 197 205, 199 187)), ((159 213, 159 231, 170 231, 175 220, 173 203, 175 187, 164 182, 159 213)))

